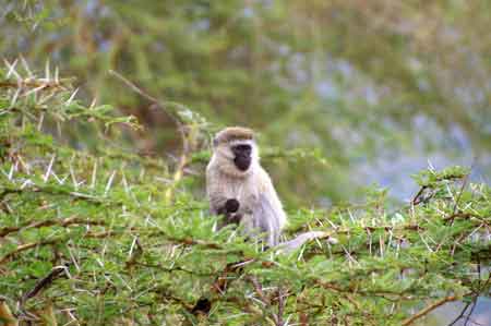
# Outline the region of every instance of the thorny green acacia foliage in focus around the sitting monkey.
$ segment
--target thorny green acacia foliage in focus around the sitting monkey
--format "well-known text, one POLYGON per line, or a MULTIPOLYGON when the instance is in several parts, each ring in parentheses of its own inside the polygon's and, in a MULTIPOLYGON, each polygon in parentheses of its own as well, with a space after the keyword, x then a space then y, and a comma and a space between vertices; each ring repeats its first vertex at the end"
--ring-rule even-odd
MULTIPOLYGON (((193 195, 201 178, 189 169, 207 159, 211 132, 202 117, 171 111, 190 145, 179 164, 139 156, 120 146, 132 118, 69 100, 62 79, 41 87, 52 74, 15 73, 0 80, 0 304, 21 323, 410 325, 422 303, 490 291, 491 189, 462 168, 416 176, 421 194, 394 212, 384 190, 363 205, 290 212, 288 238, 323 230, 337 243, 277 254, 216 231, 193 195), (94 131, 98 149, 68 146, 64 126, 94 131)), ((315 152, 265 154, 325 164, 315 152)))

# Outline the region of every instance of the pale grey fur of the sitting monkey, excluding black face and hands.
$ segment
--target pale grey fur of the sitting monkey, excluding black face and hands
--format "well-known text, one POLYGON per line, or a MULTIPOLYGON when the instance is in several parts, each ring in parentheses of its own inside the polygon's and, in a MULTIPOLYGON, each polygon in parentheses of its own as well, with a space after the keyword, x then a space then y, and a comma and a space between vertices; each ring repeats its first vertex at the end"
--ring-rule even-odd
POLYGON ((214 140, 212 159, 206 168, 206 192, 212 213, 218 214, 225 203, 235 198, 239 202, 240 224, 244 231, 255 237, 265 234, 270 246, 279 243, 279 234, 286 225, 286 215, 267 172, 259 162, 259 150, 253 132, 243 128, 228 128, 214 140), (246 171, 235 162, 231 146, 250 145, 251 164, 246 171))

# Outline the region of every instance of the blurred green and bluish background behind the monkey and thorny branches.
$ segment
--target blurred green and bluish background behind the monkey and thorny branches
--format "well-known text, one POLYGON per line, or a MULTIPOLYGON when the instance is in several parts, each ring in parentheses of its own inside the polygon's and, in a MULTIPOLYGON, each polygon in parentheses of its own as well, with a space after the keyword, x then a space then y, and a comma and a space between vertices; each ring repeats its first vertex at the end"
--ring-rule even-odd
MULTIPOLYGON (((49 60, 79 97, 134 114, 135 153, 178 150, 171 120, 111 76, 181 102, 261 144, 315 148, 265 160, 288 207, 406 201, 432 165, 491 176, 491 1, 0 0, 0 55, 49 60), (274 168, 273 168, 274 167, 274 168), (299 195, 301 194, 301 195, 299 195)), ((75 134, 85 146, 91 135, 75 134)), ((199 171, 201 172, 201 171, 199 171)))

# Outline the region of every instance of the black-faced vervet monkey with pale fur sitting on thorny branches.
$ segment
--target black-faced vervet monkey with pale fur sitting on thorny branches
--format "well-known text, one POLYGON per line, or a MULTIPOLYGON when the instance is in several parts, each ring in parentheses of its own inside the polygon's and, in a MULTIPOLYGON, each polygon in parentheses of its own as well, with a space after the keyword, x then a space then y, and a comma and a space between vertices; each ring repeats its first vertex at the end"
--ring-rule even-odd
POLYGON ((225 224, 240 224, 252 237, 262 233, 268 246, 278 245, 282 252, 315 238, 328 238, 326 232, 314 231, 279 243, 287 216, 270 176, 260 165, 250 129, 231 126, 216 134, 206 167, 206 192, 212 213, 223 215, 225 224))

